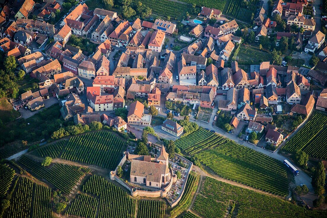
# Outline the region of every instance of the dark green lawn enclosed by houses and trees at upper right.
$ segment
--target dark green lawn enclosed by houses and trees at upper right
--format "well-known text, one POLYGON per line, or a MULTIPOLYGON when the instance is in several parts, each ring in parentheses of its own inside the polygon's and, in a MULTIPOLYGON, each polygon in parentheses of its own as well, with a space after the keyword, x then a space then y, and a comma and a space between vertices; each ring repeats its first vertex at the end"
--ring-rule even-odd
POLYGON ((271 61, 271 54, 259 50, 254 45, 241 45, 237 56, 238 64, 260 64, 263 61, 271 61))

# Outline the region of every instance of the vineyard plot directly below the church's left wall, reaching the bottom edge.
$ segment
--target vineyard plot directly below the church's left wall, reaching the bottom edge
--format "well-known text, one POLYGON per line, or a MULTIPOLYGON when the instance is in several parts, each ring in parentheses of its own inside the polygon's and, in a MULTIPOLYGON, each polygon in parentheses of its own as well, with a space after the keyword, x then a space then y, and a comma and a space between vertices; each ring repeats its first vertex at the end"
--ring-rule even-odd
POLYGON ((135 217, 135 201, 128 196, 127 192, 103 177, 93 175, 83 185, 82 191, 97 197, 99 202, 98 218, 135 217))

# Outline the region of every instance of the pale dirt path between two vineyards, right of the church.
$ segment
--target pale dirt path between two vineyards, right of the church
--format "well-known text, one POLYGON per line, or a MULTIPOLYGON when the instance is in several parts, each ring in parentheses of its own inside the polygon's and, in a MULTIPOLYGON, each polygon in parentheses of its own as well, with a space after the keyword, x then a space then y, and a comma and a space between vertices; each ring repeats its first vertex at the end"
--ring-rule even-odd
MULTIPOLYGON (((199 167, 193 165, 193 170, 195 170, 195 172, 197 172, 200 176, 208 176, 208 177, 211 177, 213 179, 216 179, 218 181, 221 181, 221 182, 225 182, 225 183, 228 183, 228 184, 231 184, 233 186, 237 186, 237 187, 241 187, 241 188, 244 188, 244 189, 249 189, 249 190, 252 190, 252 191, 256 191, 256 192, 259 192, 259 193, 262 193, 262 194, 267 194, 269 196, 272 196, 272 197, 277 197, 277 198, 280 198, 280 199, 283 199, 285 200, 284 197, 282 196, 278 196, 278 195, 274 195, 274 194, 271 194, 269 192, 266 192, 266 191, 262 191, 262 190, 259 190, 259 189, 255 189, 255 188, 252 188, 250 186, 247 186, 247 185, 244 185, 244 184, 240 184, 240 183, 237 183, 237 182, 233 182, 231 180, 227 180, 227 179, 224 179, 220 176, 217 176, 217 175, 212 175, 208 172, 206 172, 205 170, 202 170, 200 169, 199 167)), ((200 186, 200 183, 199 183, 199 186, 200 186)), ((198 188, 199 189, 199 188, 198 188)), ((197 190, 198 192, 198 190, 197 190)), ((193 199, 194 200, 194 199, 193 199)), ((193 203, 193 202, 192 202, 193 203)))

